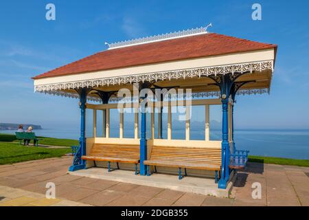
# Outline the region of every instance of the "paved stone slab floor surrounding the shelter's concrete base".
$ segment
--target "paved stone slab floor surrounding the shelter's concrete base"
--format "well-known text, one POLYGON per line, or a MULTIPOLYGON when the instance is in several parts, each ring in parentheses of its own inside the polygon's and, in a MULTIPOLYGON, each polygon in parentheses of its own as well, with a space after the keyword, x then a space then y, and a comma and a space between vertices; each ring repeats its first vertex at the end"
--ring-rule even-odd
POLYGON ((0 206, 309 206, 309 168, 249 164, 238 172, 231 198, 68 175, 72 157, 0 166, 0 206), (47 182, 56 199, 44 199, 47 182), (253 199, 252 184, 262 186, 253 199))

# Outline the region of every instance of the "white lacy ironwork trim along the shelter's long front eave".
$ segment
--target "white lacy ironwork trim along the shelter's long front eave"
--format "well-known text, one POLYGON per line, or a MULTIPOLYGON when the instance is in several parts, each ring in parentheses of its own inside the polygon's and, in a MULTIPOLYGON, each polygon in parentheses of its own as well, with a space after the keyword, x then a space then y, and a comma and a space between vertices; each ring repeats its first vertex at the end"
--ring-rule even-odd
MULTIPOLYGON (((214 67, 201 67, 194 69, 181 69, 169 72, 154 72, 146 74, 117 76, 111 78, 96 78, 89 80, 80 80, 69 83, 54 83, 47 85, 36 85, 34 91, 47 92, 49 94, 59 94, 58 91, 65 89, 78 89, 82 87, 102 87, 108 85, 121 85, 126 83, 139 83, 144 81, 157 81, 157 80, 172 80, 178 78, 192 78, 201 76, 210 76, 218 74, 234 74, 236 72, 262 72, 263 70, 271 69, 273 71, 273 61, 260 61, 254 63, 239 63, 233 65, 221 65, 214 67)), ((63 94, 64 92, 60 93, 63 94)))

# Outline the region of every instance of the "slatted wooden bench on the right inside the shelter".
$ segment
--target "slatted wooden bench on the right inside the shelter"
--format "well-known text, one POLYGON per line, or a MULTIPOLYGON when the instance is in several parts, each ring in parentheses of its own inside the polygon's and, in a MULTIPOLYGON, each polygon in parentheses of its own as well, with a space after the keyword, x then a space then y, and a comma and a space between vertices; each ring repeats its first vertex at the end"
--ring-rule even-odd
POLYGON ((147 175, 149 166, 168 166, 179 168, 179 179, 182 179, 181 168, 214 170, 215 181, 218 182, 218 171, 221 168, 221 148, 199 148, 183 146, 153 146, 149 160, 145 160, 147 175))

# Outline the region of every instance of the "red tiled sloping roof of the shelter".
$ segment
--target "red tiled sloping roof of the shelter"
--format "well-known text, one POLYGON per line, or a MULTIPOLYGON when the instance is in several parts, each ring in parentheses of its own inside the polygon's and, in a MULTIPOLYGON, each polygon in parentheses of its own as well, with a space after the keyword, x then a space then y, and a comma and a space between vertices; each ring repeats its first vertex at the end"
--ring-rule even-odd
POLYGON ((35 76, 34 79, 132 67, 188 58, 275 48, 277 45, 238 39, 222 34, 199 34, 141 45, 105 50, 35 76))

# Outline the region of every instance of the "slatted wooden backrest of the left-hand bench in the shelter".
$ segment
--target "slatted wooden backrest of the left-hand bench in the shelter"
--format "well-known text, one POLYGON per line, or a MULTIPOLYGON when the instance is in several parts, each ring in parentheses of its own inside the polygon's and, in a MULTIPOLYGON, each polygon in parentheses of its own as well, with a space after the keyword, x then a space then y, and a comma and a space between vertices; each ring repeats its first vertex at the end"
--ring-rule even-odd
POLYGON ((91 156, 139 159, 138 144, 93 144, 91 156))

